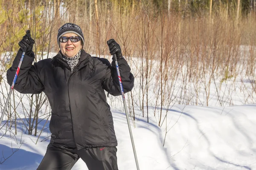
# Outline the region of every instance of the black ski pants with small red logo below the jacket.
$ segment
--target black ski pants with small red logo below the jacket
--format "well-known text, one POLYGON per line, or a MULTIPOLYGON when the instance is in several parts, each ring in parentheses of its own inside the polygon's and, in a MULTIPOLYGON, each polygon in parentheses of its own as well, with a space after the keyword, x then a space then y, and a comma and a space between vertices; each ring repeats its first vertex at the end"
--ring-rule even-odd
POLYGON ((118 170, 116 147, 93 147, 77 150, 50 143, 37 170, 71 170, 81 158, 89 170, 118 170))

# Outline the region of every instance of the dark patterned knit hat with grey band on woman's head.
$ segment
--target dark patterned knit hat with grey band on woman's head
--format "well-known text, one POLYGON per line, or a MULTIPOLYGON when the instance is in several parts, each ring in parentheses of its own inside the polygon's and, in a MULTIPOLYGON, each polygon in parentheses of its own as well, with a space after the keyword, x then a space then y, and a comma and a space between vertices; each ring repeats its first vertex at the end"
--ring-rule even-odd
POLYGON ((84 34, 81 28, 73 23, 65 23, 61 28, 58 30, 57 42, 60 46, 60 37, 67 33, 74 33, 78 35, 82 39, 82 46, 84 45, 84 34))

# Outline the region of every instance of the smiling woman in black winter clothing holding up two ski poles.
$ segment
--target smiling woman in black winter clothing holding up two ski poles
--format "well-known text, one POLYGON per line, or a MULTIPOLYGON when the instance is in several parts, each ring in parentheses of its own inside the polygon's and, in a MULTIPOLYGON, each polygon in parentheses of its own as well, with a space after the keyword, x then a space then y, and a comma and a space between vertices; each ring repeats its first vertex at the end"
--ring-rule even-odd
MULTIPOLYGON (((44 92, 52 108, 51 140, 38 170, 70 170, 79 158, 89 170, 118 170, 117 140, 105 96, 105 91, 120 95, 115 63, 87 54, 84 35, 76 24, 59 28, 57 41, 60 51, 55 57, 32 65, 34 40, 26 34, 7 71, 11 85, 26 48, 14 88, 23 94, 44 92)), ((124 91, 131 91, 134 77, 120 46, 113 39, 107 44, 111 55, 116 54, 124 91)))

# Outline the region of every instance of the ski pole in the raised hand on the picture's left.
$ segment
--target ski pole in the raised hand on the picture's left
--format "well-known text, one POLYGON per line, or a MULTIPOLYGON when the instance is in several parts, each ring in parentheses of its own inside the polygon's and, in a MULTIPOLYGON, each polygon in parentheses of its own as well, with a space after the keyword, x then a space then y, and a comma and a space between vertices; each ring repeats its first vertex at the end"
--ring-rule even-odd
MULTIPOLYGON (((27 30, 27 31, 26 31, 26 35, 30 37, 30 30, 27 30)), ((12 86, 11 86, 11 89, 10 89, 10 91, 9 91, 9 95, 8 95, 8 97, 7 97, 7 99, 6 99, 6 103, 5 103, 5 105, 4 105, 4 108, 3 108, 3 111, 2 111, 2 115, 1 115, 1 119, 0 119, 0 125, 1 125, 2 120, 3 120, 3 115, 4 115, 4 113, 6 112, 6 108, 7 108, 7 105, 8 105, 8 101, 9 101, 11 95, 12 95, 13 87, 14 87, 14 85, 15 85, 15 82, 16 82, 16 80, 17 80, 18 74, 19 74, 19 72, 20 72, 20 66, 21 66, 21 64, 22 64, 22 62, 23 62, 23 58, 24 58, 25 52, 26 52, 26 48, 23 49, 23 53, 22 53, 22 56, 21 56, 21 58, 20 58, 19 65, 18 65, 18 67, 17 67, 16 73, 15 73, 15 76, 14 76, 14 79, 13 79, 13 82, 12 82, 12 86)))

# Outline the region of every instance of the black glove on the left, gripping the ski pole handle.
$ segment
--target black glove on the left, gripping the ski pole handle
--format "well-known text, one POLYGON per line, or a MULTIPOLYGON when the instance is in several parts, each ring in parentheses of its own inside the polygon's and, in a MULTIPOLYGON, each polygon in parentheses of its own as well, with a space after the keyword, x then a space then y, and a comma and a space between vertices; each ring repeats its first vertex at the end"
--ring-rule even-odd
POLYGON ((26 49, 25 54, 30 54, 32 52, 34 43, 35 41, 31 38, 30 30, 27 30, 26 35, 24 35, 22 40, 19 42, 19 46, 23 52, 26 49))

